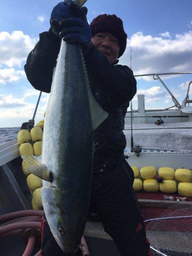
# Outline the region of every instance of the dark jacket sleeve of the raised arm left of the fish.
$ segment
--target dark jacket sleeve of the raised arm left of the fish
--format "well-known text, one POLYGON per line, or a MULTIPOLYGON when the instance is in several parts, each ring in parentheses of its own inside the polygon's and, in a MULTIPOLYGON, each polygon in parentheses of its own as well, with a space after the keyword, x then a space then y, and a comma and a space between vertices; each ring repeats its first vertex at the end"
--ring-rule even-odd
POLYGON ((60 44, 60 39, 50 38, 48 32, 39 35, 39 41, 29 53, 24 66, 27 79, 35 89, 50 93, 60 44))

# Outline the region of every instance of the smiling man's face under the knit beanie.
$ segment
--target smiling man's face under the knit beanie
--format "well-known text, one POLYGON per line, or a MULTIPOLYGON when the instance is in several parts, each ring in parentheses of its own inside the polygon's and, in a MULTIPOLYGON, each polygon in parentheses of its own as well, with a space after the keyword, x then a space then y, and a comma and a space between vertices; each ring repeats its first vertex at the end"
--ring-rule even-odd
POLYGON ((117 60, 119 55, 119 42, 111 33, 97 33, 91 38, 91 41, 100 52, 105 54, 110 63, 117 60))

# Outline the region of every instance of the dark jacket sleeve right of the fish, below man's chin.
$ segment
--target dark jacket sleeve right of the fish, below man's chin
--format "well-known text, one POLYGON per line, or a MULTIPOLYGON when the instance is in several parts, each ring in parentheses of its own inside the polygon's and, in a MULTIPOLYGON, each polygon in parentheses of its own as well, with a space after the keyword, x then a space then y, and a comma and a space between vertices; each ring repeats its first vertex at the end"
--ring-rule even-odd
POLYGON ((84 58, 89 79, 102 87, 111 104, 124 106, 133 99, 137 81, 129 67, 111 64, 94 46, 84 58))

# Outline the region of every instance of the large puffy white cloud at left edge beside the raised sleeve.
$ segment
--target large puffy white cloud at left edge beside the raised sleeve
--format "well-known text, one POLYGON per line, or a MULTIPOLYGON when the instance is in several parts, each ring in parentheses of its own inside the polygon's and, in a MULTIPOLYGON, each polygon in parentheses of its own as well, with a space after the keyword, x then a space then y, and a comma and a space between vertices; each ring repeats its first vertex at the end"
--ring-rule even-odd
POLYGON ((0 32, 0 67, 21 67, 36 42, 36 39, 24 35, 22 31, 14 31, 11 34, 0 32))

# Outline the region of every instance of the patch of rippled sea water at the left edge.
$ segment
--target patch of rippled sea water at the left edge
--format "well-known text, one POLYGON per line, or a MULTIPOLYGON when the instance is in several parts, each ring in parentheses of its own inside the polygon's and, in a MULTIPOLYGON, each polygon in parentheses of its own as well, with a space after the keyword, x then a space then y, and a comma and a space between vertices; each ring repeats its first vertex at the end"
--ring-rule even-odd
POLYGON ((20 127, 0 128, 0 144, 17 139, 20 127))

